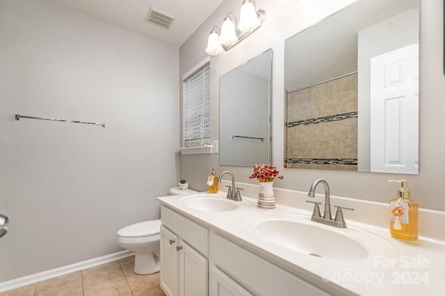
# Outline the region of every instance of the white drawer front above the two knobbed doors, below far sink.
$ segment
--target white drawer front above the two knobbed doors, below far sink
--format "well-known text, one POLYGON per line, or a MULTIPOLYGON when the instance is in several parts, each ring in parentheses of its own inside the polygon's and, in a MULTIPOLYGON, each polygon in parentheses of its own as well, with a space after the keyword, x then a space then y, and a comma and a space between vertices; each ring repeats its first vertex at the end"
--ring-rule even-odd
POLYGON ((205 257, 209 256, 209 231, 207 229, 165 206, 161 207, 161 222, 164 227, 180 236, 182 240, 191 245, 197 252, 200 252, 205 257))

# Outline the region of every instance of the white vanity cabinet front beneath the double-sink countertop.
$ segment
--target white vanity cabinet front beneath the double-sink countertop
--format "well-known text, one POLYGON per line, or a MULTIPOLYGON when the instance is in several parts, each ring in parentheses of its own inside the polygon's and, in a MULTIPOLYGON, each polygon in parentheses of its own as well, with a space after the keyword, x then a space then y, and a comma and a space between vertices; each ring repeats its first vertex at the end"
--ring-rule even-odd
POLYGON ((161 220, 161 287, 169 296, 328 295, 227 233, 166 206, 161 220))

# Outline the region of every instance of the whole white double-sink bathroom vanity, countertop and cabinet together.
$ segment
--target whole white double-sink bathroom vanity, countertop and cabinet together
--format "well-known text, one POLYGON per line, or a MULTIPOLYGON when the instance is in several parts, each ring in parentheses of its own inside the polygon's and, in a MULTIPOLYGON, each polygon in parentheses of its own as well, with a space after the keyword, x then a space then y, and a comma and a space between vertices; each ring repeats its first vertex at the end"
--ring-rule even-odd
MULTIPOLYGON (((264 210, 257 208, 258 186, 238 187, 242 202, 225 192, 159 197, 167 295, 375 295, 382 289, 435 295, 445 289, 443 240, 392 239, 385 204, 332 196, 332 204, 355 207, 345 213, 348 227, 336 229, 310 221, 307 192, 275 188, 277 208, 264 210)), ((437 225, 445 220, 444 213, 420 215, 437 225)))

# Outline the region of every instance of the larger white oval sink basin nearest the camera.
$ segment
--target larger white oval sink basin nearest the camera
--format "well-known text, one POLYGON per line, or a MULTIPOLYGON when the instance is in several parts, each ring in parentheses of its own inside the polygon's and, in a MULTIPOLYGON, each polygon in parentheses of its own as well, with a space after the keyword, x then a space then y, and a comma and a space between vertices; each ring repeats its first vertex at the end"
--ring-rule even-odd
POLYGON ((338 229, 294 213, 265 213, 248 218, 248 228, 260 238, 286 249, 334 261, 359 261, 370 250, 396 249, 373 233, 350 227, 338 229))

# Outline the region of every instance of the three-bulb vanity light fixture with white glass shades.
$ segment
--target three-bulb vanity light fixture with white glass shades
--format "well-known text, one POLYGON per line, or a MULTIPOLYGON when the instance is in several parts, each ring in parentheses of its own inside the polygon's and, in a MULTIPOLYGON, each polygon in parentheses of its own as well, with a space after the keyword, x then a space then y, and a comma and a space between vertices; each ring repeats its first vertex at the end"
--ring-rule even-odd
POLYGON ((218 54, 228 51, 257 30, 263 24, 266 12, 261 9, 255 9, 254 0, 243 0, 239 24, 233 13, 227 13, 221 25, 221 30, 218 26, 213 26, 207 40, 206 53, 210 56, 218 56, 218 54))

